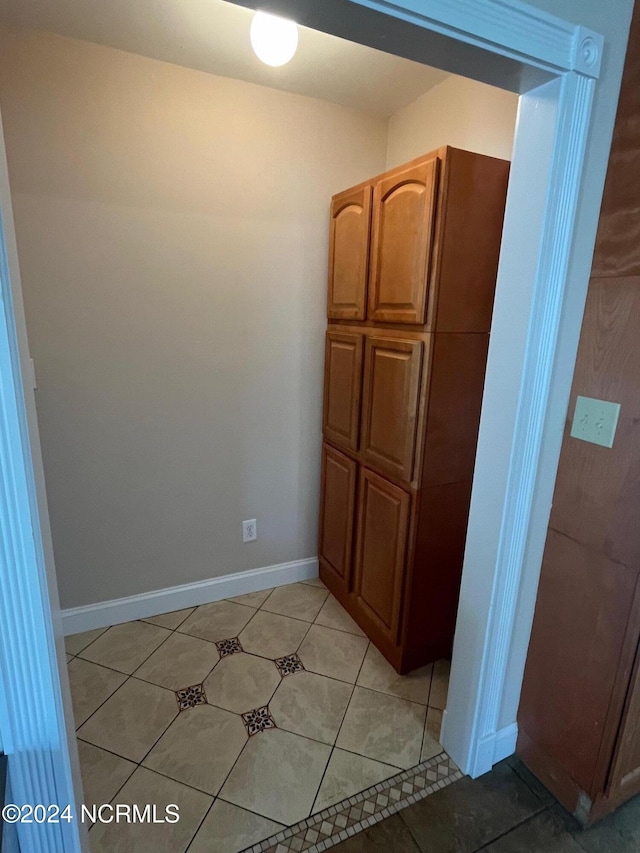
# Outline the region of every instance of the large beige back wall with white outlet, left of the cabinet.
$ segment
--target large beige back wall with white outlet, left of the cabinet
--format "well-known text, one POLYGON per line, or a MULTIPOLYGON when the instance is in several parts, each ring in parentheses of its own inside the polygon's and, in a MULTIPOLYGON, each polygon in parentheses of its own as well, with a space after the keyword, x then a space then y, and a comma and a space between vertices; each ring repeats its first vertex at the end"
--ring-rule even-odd
POLYGON ((329 197, 386 123, 49 35, 0 80, 62 606, 315 556, 329 197))

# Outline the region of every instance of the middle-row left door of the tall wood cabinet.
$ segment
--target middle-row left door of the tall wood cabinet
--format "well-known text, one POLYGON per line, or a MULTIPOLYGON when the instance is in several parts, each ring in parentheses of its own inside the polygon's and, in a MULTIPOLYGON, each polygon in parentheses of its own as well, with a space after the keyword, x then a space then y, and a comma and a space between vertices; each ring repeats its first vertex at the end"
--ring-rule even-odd
POLYGON ((348 450, 358 449, 363 337, 327 332, 324 365, 325 438, 348 450))

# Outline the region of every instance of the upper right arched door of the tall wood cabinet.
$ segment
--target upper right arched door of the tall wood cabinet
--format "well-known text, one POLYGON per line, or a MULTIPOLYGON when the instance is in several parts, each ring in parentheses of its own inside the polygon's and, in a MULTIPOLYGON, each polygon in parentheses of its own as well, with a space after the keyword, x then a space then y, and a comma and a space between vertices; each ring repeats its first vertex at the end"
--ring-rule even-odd
POLYGON ((424 323, 439 159, 395 171, 373 196, 370 320, 424 323))

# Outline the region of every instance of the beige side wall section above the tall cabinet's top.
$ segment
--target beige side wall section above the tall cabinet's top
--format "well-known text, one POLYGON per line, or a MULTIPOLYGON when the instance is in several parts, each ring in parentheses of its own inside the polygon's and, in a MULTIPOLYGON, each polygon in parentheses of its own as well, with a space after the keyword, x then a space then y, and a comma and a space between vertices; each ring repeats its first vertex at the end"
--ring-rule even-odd
POLYGON ((441 145, 511 159, 518 96, 447 77, 389 120, 387 168, 441 145))

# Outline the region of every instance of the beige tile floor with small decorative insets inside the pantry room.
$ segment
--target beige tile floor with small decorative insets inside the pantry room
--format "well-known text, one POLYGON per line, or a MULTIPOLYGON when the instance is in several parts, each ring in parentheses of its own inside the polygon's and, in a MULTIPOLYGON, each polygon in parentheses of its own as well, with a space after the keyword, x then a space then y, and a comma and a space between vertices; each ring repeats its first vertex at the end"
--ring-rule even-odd
POLYGON ((180 807, 97 824, 93 853, 238 853, 292 825, 298 840, 257 849, 310 849, 456 772, 438 743, 448 663, 398 676, 318 579, 76 634, 67 653, 85 802, 180 807))

